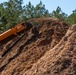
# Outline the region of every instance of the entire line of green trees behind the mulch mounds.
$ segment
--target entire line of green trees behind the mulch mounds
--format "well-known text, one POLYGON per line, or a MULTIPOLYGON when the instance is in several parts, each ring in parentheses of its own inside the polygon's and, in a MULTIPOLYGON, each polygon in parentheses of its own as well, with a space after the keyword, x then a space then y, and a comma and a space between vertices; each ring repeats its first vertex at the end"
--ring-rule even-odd
POLYGON ((72 25, 76 23, 76 9, 68 16, 59 6, 50 13, 42 1, 36 6, 33 6, 31 2, 23 6, 23 0, 9 0, 0 4, 0 31, 12 28, 20 22, 39 17, 58 18, 72 25))

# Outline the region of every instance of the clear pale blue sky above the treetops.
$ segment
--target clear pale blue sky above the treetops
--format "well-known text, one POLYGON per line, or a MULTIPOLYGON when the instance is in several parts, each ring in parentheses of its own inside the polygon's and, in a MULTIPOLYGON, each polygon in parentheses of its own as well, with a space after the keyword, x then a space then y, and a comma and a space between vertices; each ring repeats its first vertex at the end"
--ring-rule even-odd
MULTIPOLYGON (((6 2, 8 0, 0 0, 0 3, 6 2)), ((51 13, 53 10, 59 6, 63 12, 70 15, 73 10, 76 9, 76 0, 23 0, 23 4, 26 5, 31 2, 32 5, 36 6, 39 2, 45 5, 45 8, 51 13)))

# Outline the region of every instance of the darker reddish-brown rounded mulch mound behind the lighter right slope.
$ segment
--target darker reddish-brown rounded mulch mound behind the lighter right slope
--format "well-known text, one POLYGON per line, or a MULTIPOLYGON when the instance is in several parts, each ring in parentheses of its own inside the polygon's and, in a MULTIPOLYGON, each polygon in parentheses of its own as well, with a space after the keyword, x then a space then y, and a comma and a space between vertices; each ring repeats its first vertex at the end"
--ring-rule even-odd
MULTIPOLYGON (((34 75, 30 70, 32 66, 59 43, 69 28, 65 22, 52 18, 38 18, 28 22, 37 27, 27 32, 28 35, 25 35, 10 52, 0 59, 1 75, 23 75, 25 72, 27 75, 34 75), (34 30, 35 28, 37 30, 34 30)), ((6 47, 2 48, 3 51, 6 47)))

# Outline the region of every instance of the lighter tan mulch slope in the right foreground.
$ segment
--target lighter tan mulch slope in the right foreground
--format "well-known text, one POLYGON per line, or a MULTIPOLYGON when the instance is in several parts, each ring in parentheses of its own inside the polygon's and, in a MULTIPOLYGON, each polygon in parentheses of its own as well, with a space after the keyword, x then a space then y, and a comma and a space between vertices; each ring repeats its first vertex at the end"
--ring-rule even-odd
POLYGON ((76 24, 24 75, 76 75, 76 24))

